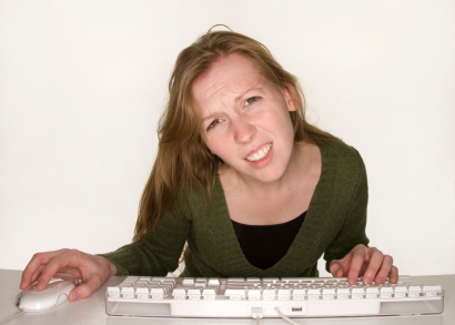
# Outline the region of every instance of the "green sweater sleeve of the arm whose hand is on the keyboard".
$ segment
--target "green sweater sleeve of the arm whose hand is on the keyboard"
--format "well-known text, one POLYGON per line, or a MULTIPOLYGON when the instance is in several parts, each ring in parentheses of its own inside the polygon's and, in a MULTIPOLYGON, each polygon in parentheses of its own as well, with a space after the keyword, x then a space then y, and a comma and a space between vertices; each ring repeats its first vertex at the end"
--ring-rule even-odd
POLYGON ((325 268, 330 272, 330 263, 333 260, 343 258, 357 244, 368 244, 365 233, 366 228, 366 206, 368 202, 368 186, 365 165, 362 158, 356 152, 357 160, 353 164, 356 170, 355 185, 346 209, 343 226, 338 234, 331 242, 324 253, 326 261, 325 268))

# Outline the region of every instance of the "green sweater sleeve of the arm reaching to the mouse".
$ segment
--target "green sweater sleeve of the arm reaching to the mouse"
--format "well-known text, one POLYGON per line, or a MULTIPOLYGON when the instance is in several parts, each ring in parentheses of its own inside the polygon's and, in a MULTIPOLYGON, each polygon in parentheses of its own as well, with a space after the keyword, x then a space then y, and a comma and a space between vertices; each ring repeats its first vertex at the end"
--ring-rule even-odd
POLYGON ((132 243, 99 255, 115 265, 115 275, 165 276, 175 271, 191 228, 182 206, 179 202, 172 204, 144 243, 132 243))

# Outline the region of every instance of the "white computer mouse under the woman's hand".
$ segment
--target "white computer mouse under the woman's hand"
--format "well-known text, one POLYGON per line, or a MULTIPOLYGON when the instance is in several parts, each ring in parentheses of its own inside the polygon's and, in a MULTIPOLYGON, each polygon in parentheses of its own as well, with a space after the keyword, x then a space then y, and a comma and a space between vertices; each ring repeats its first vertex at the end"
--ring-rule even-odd
POLYGON ((40 313, 52 309, 58 305, 67 302, 70 292, 79 283, 71 280, 61 280, 49 283, 49 285, 41 291, 38 291, 32 285, 27 291, 19 294, 17 305, 23 312, 40 313))

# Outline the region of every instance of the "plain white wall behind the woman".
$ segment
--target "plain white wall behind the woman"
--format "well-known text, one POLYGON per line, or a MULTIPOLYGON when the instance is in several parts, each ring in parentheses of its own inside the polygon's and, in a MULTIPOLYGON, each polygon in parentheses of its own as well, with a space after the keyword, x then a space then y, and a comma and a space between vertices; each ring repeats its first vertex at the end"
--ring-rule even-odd
POLYGON ((0 267, 131 241, 174 61, 216 23, 361 152, 371 244, 402 274, 455 273, 453 0, 0 0, 0 267))

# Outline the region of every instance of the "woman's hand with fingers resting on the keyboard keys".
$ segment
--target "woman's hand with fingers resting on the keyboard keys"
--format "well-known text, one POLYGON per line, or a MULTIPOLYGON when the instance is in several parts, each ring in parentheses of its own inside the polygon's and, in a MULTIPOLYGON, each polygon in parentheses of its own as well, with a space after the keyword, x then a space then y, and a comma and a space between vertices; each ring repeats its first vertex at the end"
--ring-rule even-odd
POLYGON ((391 255, 384 255, 376 247, 366 247, 363 244, 356 245, 342 260, 331 262, 330 271, 333 276, 347 276, 351 284, 357 282, 358 276, 363 275, 363 282, 371 284, 384 283, 390 277, 391 283, 398 281, 398 268, 393 265, 391 255))

